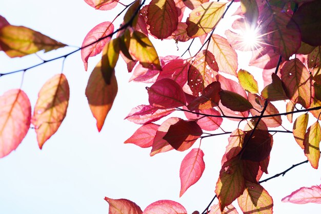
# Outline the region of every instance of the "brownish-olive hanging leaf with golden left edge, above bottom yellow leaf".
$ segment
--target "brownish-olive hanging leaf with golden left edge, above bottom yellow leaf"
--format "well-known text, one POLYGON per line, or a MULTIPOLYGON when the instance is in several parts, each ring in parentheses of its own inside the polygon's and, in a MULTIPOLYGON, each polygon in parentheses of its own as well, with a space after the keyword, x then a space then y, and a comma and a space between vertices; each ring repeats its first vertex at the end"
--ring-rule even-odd
POLYGON ((245 189, 243 177, 243 165, 239 157, 226 161, 219 172, 215 193, 219 201, 221 211, 230 205, 237 197, 242 195, 245 189))

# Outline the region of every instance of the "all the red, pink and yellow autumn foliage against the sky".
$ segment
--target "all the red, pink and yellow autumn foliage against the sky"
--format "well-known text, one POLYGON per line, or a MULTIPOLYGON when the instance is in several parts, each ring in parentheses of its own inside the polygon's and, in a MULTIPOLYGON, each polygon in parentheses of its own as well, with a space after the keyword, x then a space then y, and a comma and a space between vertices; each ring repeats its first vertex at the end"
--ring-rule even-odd
MULTIPOLYGON (((113 9, 118 3, 113 0, 85 2, 99 10, 113 9)), ((182 196, 205 169, 204 152, 200 146, 191 148, 198 139, 215 135, 203 131, 220 129, 223 120, 246 121, 243 129, 238 125, 234 131, 225 132, 230 137, 216 182, 219 204, 214 205, 210 213, 237 213, 230 205, 235 199, 243 212, 264 210, 272 213, 272 197, 259 184, 259 179, 263 173, 268 173, 273 146, 269 128, 282 126, 281 115, 287 115, 292 123, 293 113, 303 112, 296 110, 302 106, 316 118, 308 127, 309 114, 298 116, 293 123, 293 136, 312 167, 318 168, 321 2, 152 0, 142 7, 144 3, 137 0, 126 6, 124 23, 117 30, 114 30, 113 21, 95 26, 79 49, 85 70, 88 58, 102 53, 102 60, 91 72, 86 88, 98 131, 102 130, 117 94, 114 69, 121 55, 128 72, 132 72, 130 80, 152 83, 146 87, 149 104, 136 106, 126 117, 141 127, 125 143, 151 147, 151 156, 172 149, 189 150, 179 170, 179 195, 182 196), (226 31, 226 38, 215 34, 215 27, 230 5, 236 2, 240 2, 240 8, 235 13, 232 29, 226 31), (191 11, 183 22, 186 8, 191 11), (249 29, 258 33, 254 46, 245 42, 243 34, 249 29), (188 58, 158 57, 149 36, 176 42, 193 42, 199 38, 203 46, 188 58), (238 68, 235 50, 252 51, 250 65, 264 70, 266 86, 262 92, 258 91, 252 74, 238 68), (278 100, 288 100, 286 113, 279 113, 272 103, 278 100), (183 111, 186 118, 168 117, 161 124, 154 123, 175 111, 183 111)), ((39 32, 12 26, 5 18, 0 18, 0 48, 10 57, 63 46, 39 32)), ((33 116, 29 99, 21 89, 6 92, 0 98, 0 157, 8 155, 21 143, 30 123, 35 127, 42 148, 65 118, 68 100, 69 86, 63 74, 55 75, 44 84, 33 108, 33 116)), ((312 188, 320 194, 319 186, 312 188)), ((307 190, 293 192, 284 201, 302 203, 299 196, 304 195, 302 192, 307 190), (292 197, 295 200, 290 200, 292 197)), ((309 202, 320 203, 315 199, 317 197, 309 202)), ((110 213, 113 209, 124 210, 124 213, 143 212, 125 199, 106 198, 106 201, 110 204, 110 213)), ((172 201, 154 202, 144 212, 165 210, 164 207, 169 209, 166 213, 174 210, 186 213, 182 205, 172 201)))

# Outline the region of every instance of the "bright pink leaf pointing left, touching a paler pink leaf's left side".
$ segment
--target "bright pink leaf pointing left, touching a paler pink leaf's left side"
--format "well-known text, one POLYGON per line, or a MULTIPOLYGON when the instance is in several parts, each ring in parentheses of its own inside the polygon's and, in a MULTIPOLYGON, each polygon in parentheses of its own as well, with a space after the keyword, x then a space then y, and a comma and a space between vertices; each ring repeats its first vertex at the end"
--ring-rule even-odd
POLYGON ((134 134, 124 143, 133 143, 142 148, 148 148, 153 145, 153 141, 159 125, 148 123, 139 127, 134 134))

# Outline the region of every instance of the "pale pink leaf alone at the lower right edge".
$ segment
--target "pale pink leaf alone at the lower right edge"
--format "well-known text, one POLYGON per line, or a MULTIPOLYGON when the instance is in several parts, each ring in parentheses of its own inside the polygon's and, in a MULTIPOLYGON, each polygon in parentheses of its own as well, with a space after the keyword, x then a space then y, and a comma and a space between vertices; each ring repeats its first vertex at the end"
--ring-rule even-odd
POLYGON ((321 204, 321 185, 301 187, 292 192, 289 196, 284 197, 282 202, 291 202, 294 204, 321 204))

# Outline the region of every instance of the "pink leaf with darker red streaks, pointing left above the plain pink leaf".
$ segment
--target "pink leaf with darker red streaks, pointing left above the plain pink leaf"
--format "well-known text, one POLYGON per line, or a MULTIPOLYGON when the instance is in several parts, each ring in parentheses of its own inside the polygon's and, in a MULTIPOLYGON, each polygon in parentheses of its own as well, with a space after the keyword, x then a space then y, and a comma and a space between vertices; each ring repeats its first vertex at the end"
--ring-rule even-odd
POLYGON ((130 111, 125 119, 136 124, 146 124, 157 121, 172 112, 174 109, 158 109, 151 105, 138 105, 130 111))

